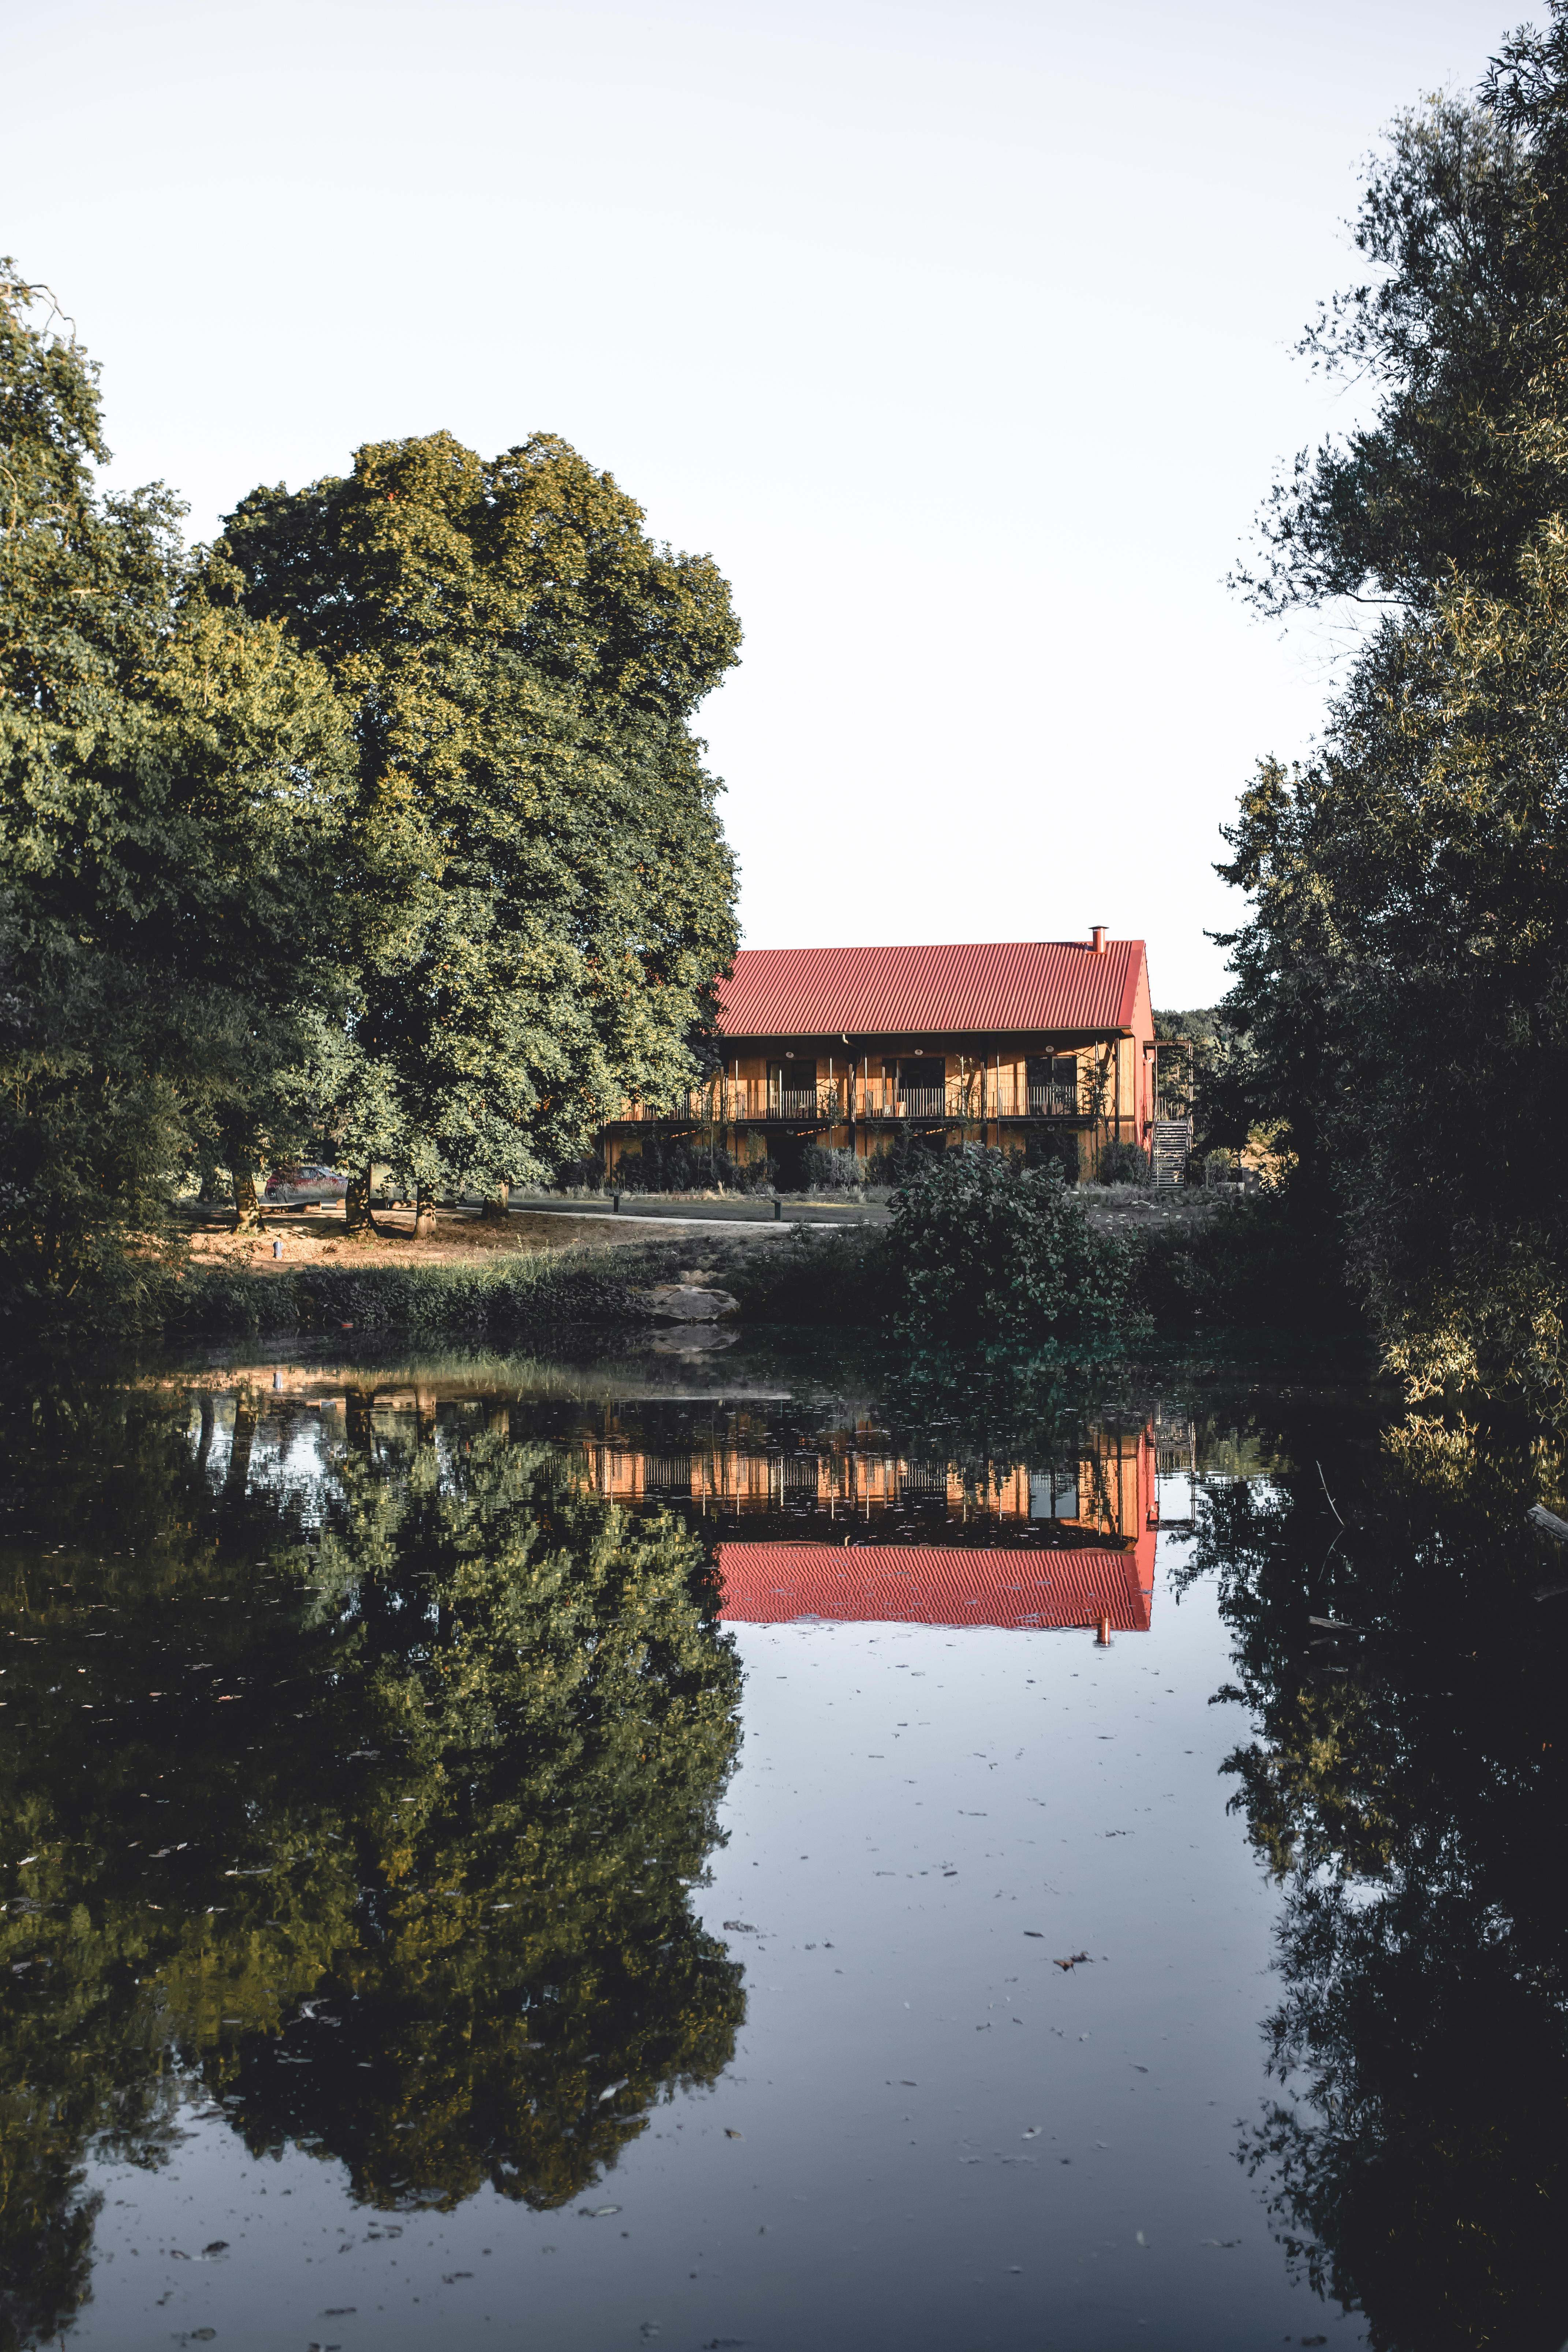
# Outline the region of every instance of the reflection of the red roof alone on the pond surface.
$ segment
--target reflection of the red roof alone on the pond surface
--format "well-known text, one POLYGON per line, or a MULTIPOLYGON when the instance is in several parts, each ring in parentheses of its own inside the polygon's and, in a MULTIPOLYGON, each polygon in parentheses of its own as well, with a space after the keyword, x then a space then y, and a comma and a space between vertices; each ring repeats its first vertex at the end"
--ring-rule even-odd
POLYGON ((722 1616, 914 1625, 1098 1625, 1147 1632, 1154 1529, 1135 1548, 980 1552, 912 1543, 722 1543, 722 1616))

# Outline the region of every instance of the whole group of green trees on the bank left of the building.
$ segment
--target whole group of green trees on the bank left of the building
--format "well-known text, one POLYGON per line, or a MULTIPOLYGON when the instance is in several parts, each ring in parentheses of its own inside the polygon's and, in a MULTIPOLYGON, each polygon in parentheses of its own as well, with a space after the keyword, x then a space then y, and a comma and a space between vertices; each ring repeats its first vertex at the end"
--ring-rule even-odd
POLYGON ((733 870, 691 715, 741 642, 567 442, 444 433, 186 548, 0 263, 0 1251, 134 1294, 181 1181, 498 1195, 701 1065, 733 870))

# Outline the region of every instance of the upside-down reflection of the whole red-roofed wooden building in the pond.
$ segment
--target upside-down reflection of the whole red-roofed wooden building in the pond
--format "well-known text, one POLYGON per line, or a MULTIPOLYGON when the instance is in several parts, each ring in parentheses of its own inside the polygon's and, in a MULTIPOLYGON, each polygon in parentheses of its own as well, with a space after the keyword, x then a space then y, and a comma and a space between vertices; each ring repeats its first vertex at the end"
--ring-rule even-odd
POLYGON ((900 1456, 870 1425, 795 1449, 736 1435, 654 1451, 607 1435, 581 1442, 578 1461, 609 1501, 675 1508, 717 1536, 738 1623, 1150 1628, 1147 1425, 1086 1430, 1051 1461, 983 1472, 900 1456))

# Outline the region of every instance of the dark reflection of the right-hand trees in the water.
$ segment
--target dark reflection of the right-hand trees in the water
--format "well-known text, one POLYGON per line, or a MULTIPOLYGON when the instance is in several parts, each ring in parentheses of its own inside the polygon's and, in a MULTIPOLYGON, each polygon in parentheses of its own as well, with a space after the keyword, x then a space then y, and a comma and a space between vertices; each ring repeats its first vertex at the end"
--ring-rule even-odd
POLYGON ((1568 1599, 1533 1599, 1563 1573, 1523 1531, 1542 1461, 1432 1425, 1293 1451, 1291 1491, 1208 1491, 1190 1569, 1218 1571, 1258 1724, 1227 1769, 1284 1884, 1284 2096, 1244 2154, 1373 2345, 1556 2352, 1568 1599))

